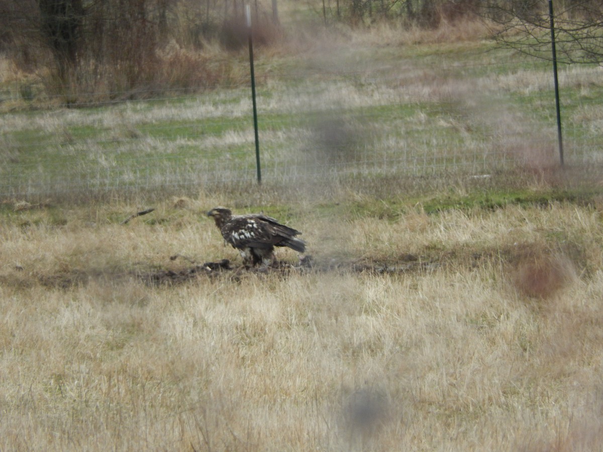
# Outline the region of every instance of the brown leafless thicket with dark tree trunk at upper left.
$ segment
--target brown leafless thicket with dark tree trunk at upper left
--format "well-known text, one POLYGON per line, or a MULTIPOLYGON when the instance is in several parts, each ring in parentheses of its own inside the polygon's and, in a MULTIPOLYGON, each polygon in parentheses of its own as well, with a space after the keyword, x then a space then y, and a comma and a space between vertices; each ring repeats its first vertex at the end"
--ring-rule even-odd
MULTIPOLYGON (((0 0, 0 52, 51 95, 197 89, 223 74, 202 52, 242 42, 242 0, 0 0)), ((246 35, 245 35, 246 36, 246 35)))

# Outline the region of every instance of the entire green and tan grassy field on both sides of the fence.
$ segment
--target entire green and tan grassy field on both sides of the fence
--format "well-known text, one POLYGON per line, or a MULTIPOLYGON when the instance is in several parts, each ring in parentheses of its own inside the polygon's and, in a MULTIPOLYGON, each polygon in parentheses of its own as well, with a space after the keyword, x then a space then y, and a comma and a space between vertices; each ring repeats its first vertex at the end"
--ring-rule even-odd
POLYGON ((259 51, 262 186, 247 87, 3 101, 0 450, 601 450, 600 69, 563 70, 561 169, 546 63, 446 36, 259 51), (313 266, 242 270, 218 205, 313 266))

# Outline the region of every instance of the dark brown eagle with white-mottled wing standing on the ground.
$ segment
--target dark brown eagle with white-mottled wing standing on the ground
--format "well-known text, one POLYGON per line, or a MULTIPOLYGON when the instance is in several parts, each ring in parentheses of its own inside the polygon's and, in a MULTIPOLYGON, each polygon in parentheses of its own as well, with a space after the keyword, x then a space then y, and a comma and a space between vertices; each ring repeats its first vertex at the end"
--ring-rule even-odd
POLYGON ((224 240, 239 250, 247 267, 261 263, 270 266, 274 260, 274 246, 288 246, 298 253, 306 251, 306 243, 296 239, 301 234, 293 228, 262 213, 232 215, 226 207, 215 207, 207 212, 222 233, 224 240))

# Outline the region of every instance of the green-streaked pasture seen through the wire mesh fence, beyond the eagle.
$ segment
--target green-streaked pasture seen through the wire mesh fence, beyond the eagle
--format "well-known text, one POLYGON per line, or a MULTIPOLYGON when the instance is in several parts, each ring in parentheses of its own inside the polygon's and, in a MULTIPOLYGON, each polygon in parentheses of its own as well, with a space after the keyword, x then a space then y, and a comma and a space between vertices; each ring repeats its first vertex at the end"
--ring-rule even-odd
MULTIPOLYGON (((453 172, 481 177, 558 162, 547 63, 496 54, 478 62, 397 61, 341 67, 328 58, 262 72, 257 107, 262 180, 453 172), (318 61, 318 63, 317 63, 318 61)), ((565 162, 603 160, 601 69, 562 69, 565 162)), ((0 197, 198 190, 256 180, 247 83, 147 99, 0 116, 0 197)), ((4 92, 2 102, 22 93, 4 92)), ((86 97, 84 96, 84 99, 86 97)))

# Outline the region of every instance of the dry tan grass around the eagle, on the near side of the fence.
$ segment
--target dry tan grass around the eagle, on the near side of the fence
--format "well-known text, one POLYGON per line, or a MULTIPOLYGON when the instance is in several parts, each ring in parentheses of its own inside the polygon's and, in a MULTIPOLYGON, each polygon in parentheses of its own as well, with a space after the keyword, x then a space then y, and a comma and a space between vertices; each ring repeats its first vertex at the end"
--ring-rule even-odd
POLYGON ((317 262, 431 265, 137 278, 189 265, 177 253, 237 260, 203 218, 237 202, 219 198, 170 199, 127 225, 139 206, 2 217, 2 450, 601 448, 596 209, 391 222, 306 201, 291 224, 317 262), (555 290, 525 290, 541 268, 555 290))

